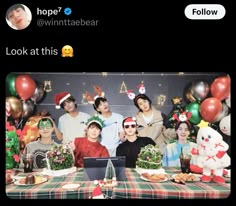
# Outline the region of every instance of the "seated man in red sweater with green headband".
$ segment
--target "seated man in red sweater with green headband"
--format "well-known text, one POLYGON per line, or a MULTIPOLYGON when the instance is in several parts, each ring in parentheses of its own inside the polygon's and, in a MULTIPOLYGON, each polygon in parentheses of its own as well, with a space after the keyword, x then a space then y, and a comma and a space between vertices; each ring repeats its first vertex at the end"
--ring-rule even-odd
POLYGON ((98 116, 93 116, 88 119, 86 125, 87 137, 76 137, 74 140, 76 167, 84 167, 84 157, 109 157, 106 147, 98 141, 102 128, 105 126, 103 121, 98 116))

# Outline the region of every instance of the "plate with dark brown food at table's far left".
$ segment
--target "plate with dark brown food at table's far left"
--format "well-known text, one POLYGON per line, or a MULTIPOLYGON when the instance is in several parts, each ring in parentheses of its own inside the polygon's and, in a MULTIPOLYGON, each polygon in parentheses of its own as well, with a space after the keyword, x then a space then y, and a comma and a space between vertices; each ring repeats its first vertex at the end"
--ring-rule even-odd
POLYGON ((21 178, 21 179, 15 181, 14 184, 20 185, 20 186, 31 186, 31 185, 42 184, 47 181, 48 181, 48 179, 46 177, 36 176, 36 175, 28 175, 25 178, 21 178))

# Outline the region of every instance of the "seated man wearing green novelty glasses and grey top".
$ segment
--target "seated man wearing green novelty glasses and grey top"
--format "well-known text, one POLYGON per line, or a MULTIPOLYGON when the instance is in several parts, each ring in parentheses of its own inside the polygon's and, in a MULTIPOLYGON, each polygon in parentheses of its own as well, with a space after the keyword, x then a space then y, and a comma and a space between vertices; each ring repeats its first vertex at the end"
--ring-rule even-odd
POLYGON ((37 125, 39 129, 39 137, 36 141, 28 143, 23 151, 23 157, 26 154, 32 154, 34 157, 33 168, 46 167, 46 152, 49 151, 54 144, 52 133, 54 131, 53 122, 50 117, 43 117, 37 125))

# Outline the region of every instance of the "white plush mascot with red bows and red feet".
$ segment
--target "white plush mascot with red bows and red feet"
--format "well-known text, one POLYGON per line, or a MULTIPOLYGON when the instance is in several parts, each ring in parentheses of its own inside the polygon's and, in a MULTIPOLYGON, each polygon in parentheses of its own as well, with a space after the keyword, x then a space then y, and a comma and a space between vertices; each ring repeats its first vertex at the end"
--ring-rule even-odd
POLYGON ((230 157, 226 152, 229 145, 223 141, 221 134, 211 127, 202 127, 198 130, 197 144, 198 149, 194 153, 198 154, 197 165, 203 168, 201 180, 210 182, 213 171, 212 180, 224 183, 223 170, 230 165, 230 157))

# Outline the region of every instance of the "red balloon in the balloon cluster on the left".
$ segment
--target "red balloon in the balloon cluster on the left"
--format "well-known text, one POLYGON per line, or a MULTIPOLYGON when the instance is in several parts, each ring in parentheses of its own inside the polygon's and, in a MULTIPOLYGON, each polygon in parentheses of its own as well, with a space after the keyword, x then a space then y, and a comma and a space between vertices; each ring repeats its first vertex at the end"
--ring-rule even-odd
POLYGON ((15 89, 22 100, 29 99, 35 91, 35 81, 29 75, 19 75, 15 80, 15 89))

